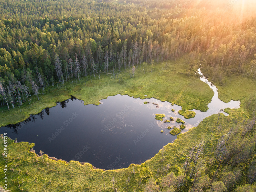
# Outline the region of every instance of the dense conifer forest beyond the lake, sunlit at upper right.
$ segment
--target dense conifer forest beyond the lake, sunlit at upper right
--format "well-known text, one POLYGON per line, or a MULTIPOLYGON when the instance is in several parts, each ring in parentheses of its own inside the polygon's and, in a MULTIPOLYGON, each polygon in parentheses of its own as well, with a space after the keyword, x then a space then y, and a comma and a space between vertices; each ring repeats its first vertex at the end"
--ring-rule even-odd
POLYGON ((195 62, 204 62, 206 75, 220 84, 229 74, 255 79, 253 6, 244 6, 240 17, 239 5, 227 10, 218 3, 222 9, 181 0, 1 1, 0 104, 14 108, 56 83, 123 70, 132 74, 143 62, 184 56, 187 74, 195 62))

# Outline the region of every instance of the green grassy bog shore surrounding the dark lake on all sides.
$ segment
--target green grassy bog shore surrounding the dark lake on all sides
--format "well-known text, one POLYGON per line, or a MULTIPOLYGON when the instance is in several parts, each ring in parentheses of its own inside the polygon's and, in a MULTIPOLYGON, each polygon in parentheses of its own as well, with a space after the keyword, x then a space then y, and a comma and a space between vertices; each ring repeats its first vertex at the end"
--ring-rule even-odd
MULTIPOLYGON (((179 62, 182 63, 182 61, 179 62)), ((65 97, 69 98, 70 94, 76 96, 79 99, 84 98, 85 104, 90 102, 99 104, 98 101, 102 99, 101 97, 103 97, 104 94, 108 95, 107 93, 109 93, 109 95, 114 95, 122 93, 141 98, 145 98, 145 94, 148 95, 147 98, 155 97, 161 99, 162 101, 167 100, 169 102, 179 104, 182 106, 183 110, 196 108, 205 111, 207 109, 207 104, 211 100, 213 92, 209 87, 207 87, 205 83, 200 82, 200 80, 196 77, 188 77, 178 73, 180 68, 185 67, 185 64, 180 65, 180 63, 169 63, 169 69, 163 69, 163 71, 161 66, 165 67, 165 64, 159 64, 158 71, 153 71, 152 73, 147 71, 145 74, 143 70, 140 72, 139 69, 137 69, 137 73, 134 79, 127 78, 127 74, 121 74, 120 81, 122 82, 120 83, 118 82, 119 79, 113 79, 110 76, 102 76, 100 80, 92 80, 91 84, 88 81, 87 87, 82 86, 82 83, 80 83, 76 86, 73 86, 72 90, 68 90, 67 88, 67 91, 65 91, 65 89, 63 91, 63 89, 55 88, 54 92, 51 92, 53 90, 52 89, 49 90, 46 95, 41 95, 41 100, 39 102, 35 102, 34 107, 37 107, 36 110, 40 110, 47 104, 47 106, 51 106, 51 104, 55 105, 55 101, 58 101, 60 98, 63 100, 65 97), (158 75, 159 73, 160 75, 158 75), (169 75, 169 73, 171 74, 169 75), (166 76, 166 78, 164 78, 164 76, 166 76), (178 76, 179 78, 177 81, 178 76), (158 84, 157 82, 159 79, 161 79, 161 81, 158 84), (196 83, 195 87, 190 88, 189 85, 191 81, 196 83), (138 88, 135 90, 136 83, 138 88), (145 86, 140 87, 143 85, 143 83, 145 83, 145 86), (134 87, 128 88, 126 87, 128 86, 127 84, 134 85, 134 87), (167 84, 172 85, 168 87, 168 91, 165 90, 167 84), (185 87, 184 90, 183 88, 180 88, 181 85, 185 87), (108 88, 111 88, 111 86, 112 89, 108 90, 108 88), (121 90, 116 89, 115 86, 121 90), (202 91, 198 94, 199 90, 195 91, 196 87, 200 87, 200 91, 204 90, 205 93, 202 91), (125 88, 127 88, 127 90, 125 90, 125 88), (178 91, 173 90, 175 88, 180 89, 178 89, 178 91), (98 89, 99 91, 97 91, 98 89), (157 89, 157 91, 154 89, 157 89), (93 92, 93 90, 95 92, 93 92), (113 93, 111 91, 113 91, 113 93), (101 92, 104 92, 104 94, 101 92), (55 98, 51 98, 51 94, 53 96, 54 93, 59 95, 57 95, 55 98), (200 95, 201 99, 196 98, 196 95, 200 95), (86 98, 86 96, 88 96, 88 98, 86 98), (43 102, 44 97, 45 101, 49 101, 47 104, 44 104, 43 102), (205 98, 205 100, 202 100, 202 98, 205 98), (202 103, 204 104, 199 104, 200 100, 202 100, 202 103), (198 101, 198 106, 196 106, 197 102, 194 103, 194 101, 198 101)), ((233 80, 237 80, 238 82, 240 81, 241 85, 245 87, 234 86, 232 81, 230 84, 227 84, 224 87, 216 85, 219 88, 218 91, 220 99, 224 101, 228 101, 230 99, 241 101, 241 108, 225 110, 225 112, 229 113, 229 116, 220 114, 219 124, 221 124, 222 127, 225 127, 226 131, 229 130, 229 128, 232 126, 243 126, 244 120, 249 119, 252 116, 254 109, 256 108, 255 81, 239 76, 230 78, 233 78, 233 80), (228 95, 226 95, 227 93, 228 95)), ((72 85, 73 84, 69 85, 69 89, 71 89, 72 85)), ((66 85, 66 87, 68 86, 66 85)), ((21 110, 25 111, 25 109, 26 108, 22 108, 21 110)), ((31 108, 28 109, 32 110, 32 105, 31 108)), ((37 112, 36 110, 35 113, 37 112)), ((7 113, 8 112, 10 113, 11 110, 7 111, 7 113)), ((18 112, 19 110, 17 110, 17 113, 18 112)), ((27 110, 27 114, 29 114, 29 112, 30 111, 27 110)), ((1 123, 2 120, 5 120, 3 114, 1 113, 1 123)), ((24 115, 26 116, 25 112, 24 115)), ((5 116, 5 118, 9 117, 5 116)), ((6 124, 8 121, 10 120, 7 119, 4 123, 6 124)), ((19 119, 15 119, 15 121, 19 121, 19 119)), ((205 118, 196 128, 190 129, 184 134, 179 134, 177 136, 177 140, 164 146, 164 150, 159 150, 158 154, 147 160, 145 163, 142 163, 141 165, 132 164, 129 166, 129 168, 126 169, 108 171, 95 169, 88 163, 81 165, 79 162, 74 161, 69 163, 61 160, 54 161, 47 158, 46 155, 40 157, 33 152, 29 152, 33 144, 29 144, 28 142, 14 143, 13 140, 8 140, 8 189, 11 191, 114 191, 112 182, 114 179, 114 181, 116 181, 114 182, 114 186, 118 188, 119 191, 124 191, 124 189, 127 189, 126 180, 129 177, 130 183, 128 191, 134 191, 135 189, 136 191, 143 191, 143 187, 147 179, 150 177, 155 177, 157 170, 161 169, 161 166, 163 167, 170 165, 169 171, 174 171, 177 173, 179 171, 179 167, 181 167, 182 163, 184 163, 186 155, 188 155, 188 151, 192 145, 195 142, 199 142, 202 137, 204 137, 206 147, 204 154, 207 155, 211 150, 211 143, 209 142, 211 133, 213 133, 212 138, 216 138, 217 136, 217 121, 217 114, 205 118), (163 151, 164 161, 162 162, 161 160, 163 157, 163 151)), ((4 123, 2 124, 4 125, 4 123)), ((3 145, 4 142, 0 137, 0 149, 2 151, 3 145)), ((1 158, 1 170, 4 169, 3 163, 4 161, 1 158)), ((3 178, 4 175, 1 174, 0 185, 3 185, 3 178)))

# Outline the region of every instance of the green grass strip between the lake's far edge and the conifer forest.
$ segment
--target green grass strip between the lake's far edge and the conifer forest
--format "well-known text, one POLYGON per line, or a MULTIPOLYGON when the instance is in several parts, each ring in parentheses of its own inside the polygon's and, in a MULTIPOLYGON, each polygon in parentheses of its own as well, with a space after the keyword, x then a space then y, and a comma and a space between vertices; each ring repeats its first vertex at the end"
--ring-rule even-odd
POLYGON ((37 114, 42 109, 56 106, 58 101, 69 99, 70 95, 83 100, 85 105, 99 105, 101 99, 106 99, 110 95, 126 94, 134 98, 153 97, 161 101, 175 103, 182 106, 184 111, 208 110, 207 104, 211 101, 214 92, 197 77, 179 73, 187 68, 185 59, 167 62, 167 67, 166 62, 155 64, 152 73, 148 66, 145 72, 143 66, 138 66, 134 78, 129 77, 127 70, 117 74, 118 78, 117 75, 114 78, 110 74, 104 76, 102 73, 100 79, 98 76, 96 78, 92 76, 91 79, 88 78, 88 81, 86 77, 82 77, 77 83, 65 82, 66 90, 63 85, 57 88, 55 84, 54 88, 46 88, 44 95, 39 95, 40 101, 37 101, 36 97, 32 97, 31 104, 24 103, 20 109, 16 106, 15 109, 8 111, 7 107, 1 107, 0 126, 23 121, 30 114, 37 114), (84 81, 86 81, 86 86, 84 81), (171 89, 170 84, 172 84, 171 89))

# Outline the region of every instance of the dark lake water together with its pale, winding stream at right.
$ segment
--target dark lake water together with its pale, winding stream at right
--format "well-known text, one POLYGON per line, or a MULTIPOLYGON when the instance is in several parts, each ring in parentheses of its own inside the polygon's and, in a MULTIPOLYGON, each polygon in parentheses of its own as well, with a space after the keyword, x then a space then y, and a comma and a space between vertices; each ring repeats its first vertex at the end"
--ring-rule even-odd
POLYGON ((154 98, 142 100, 119 94, 101 100, 96 106, 84 105, 83 101, 72 97, 37 115, 30 115, 24 122, 1 127, 0 134, 8 133, 18 142, 33 142, 36 153, 42 150, 50 157, 88 162, 102 169, 126 168, 131 163, 145 162, 164 145, 173 142, 176 136, 169 134, 167 127, 179 127, 175 122, 177 118, 185 121, 184 133, 207 116, 218 113, 220 107, 240 107, 239 101, 226 104, 218 100, 216 88, 209 110, 193 110, 196 116, 187 120, 178 114, 180 106, 154 98), (144 101, 150 103, 144 104, 144 101), (156 121, 156 113, 164 113, 164 120, 172 116, 174 121, 156 121), (161 130, 165 132, 160 133, 161 130))

